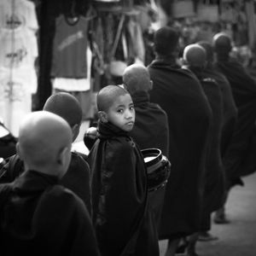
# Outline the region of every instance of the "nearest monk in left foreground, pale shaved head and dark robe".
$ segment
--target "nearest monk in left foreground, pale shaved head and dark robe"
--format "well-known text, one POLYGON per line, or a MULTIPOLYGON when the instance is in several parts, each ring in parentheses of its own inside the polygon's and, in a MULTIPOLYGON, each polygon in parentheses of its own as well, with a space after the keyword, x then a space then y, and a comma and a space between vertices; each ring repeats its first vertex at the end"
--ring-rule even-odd
POLYGON ((70 126, 54 113, 21 122, 16 148, 25 172, 0 185, 1 255, 99 255, 84 202, 59 184, 71 145, 70 126))

